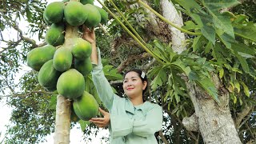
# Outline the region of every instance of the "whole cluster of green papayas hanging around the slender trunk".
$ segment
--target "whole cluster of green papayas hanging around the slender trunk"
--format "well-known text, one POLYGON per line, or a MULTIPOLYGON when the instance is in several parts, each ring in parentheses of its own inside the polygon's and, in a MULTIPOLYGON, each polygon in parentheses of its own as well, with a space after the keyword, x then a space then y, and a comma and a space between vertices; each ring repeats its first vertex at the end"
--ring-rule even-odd
POLYGON ((72 103, 71 120, 89 120, 98 114, 98 102, 86 89, 85 78, 92 70, 90 42, 72 38, 65 45, 67 25, 95 27, 106 23, 108 14, 93 5, 94 0, 51 2, 43 13, 50 25, 46 46, 34 48, 27 55, 27 65, 38 71, 38 82, 46 90, 57 90, 72 103), (76 118, 78 116, 78 118, 76 118))

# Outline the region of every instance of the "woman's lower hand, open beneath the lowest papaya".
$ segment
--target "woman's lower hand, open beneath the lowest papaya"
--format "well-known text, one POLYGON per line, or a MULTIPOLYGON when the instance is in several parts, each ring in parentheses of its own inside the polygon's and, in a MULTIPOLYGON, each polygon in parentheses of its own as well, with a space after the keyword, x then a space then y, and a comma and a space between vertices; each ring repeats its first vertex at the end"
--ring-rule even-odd
POLYGON ((91 118, 90 122, 93 122, 98 127, 106 127, 110 124, 110 114, 105 110, 99 108, 99 111, 103 114, 103 118, 91 118))

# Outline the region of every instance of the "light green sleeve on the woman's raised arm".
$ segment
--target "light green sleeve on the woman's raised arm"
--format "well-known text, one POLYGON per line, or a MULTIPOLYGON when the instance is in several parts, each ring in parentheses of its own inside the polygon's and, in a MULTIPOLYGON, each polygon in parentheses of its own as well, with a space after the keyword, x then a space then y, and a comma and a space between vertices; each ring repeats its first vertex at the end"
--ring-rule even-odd
POLYGON ((102 70, 102 59, 100 56, 100 50, 98 50, 98 65, 93 63, 93 70, 91 72, 94 86, 98 92, 98 97, 108 110, 111 109, 114 98, 114 91, 110 86, 110 82, 107 81, 104 72, 102 70))

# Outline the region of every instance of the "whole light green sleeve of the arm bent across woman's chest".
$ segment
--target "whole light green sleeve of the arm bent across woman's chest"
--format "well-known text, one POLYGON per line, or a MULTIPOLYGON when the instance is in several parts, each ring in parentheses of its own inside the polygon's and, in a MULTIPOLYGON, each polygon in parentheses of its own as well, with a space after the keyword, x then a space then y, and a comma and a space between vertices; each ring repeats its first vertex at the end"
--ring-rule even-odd
POLYGON ((156 106, 146 114, 144 120, 134 120, 127 116, 110 114, 112 137, 118 138, 130 133, 148 137, 162 128, 162 107, 156 106))

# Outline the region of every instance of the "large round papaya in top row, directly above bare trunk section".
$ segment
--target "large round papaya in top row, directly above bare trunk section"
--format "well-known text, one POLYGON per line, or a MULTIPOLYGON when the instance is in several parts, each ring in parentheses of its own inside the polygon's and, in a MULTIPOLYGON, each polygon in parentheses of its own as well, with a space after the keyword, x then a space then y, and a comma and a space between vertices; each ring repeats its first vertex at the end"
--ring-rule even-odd
POLYGON ((82 3, 77 1, 68 2, 64 8, 65 20, 71 26, 82 25, 86 21, 87 15, 82 3))

